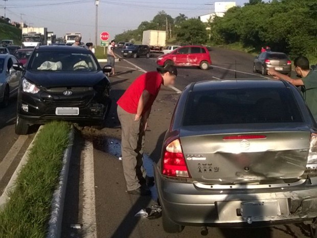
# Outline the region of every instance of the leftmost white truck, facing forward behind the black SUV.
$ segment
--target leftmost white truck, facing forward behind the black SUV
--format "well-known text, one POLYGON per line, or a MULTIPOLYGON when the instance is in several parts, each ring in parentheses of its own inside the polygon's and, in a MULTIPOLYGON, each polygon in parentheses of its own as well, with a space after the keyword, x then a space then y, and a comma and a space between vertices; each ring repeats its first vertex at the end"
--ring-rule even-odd
POLYGON ((35 48, 48 44, 48 29, 46 27, 22 28, 22 48, 35 48))

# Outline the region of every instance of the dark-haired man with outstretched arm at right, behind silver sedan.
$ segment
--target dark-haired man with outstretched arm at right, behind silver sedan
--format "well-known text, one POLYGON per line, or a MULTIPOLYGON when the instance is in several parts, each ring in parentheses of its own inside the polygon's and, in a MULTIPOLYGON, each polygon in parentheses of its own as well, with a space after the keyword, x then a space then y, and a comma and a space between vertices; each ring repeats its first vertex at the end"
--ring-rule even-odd
POLYGON ((304 86, 304 96, 306 103, 317 121, 317 69, 310 70, 309 60, 300 56, 294 60, 295 71, 300 79, 292 79, 287 75, 281 74, 274 69, 268 70, 268 75, 276 79, 283 79, 295 86, 304 86))

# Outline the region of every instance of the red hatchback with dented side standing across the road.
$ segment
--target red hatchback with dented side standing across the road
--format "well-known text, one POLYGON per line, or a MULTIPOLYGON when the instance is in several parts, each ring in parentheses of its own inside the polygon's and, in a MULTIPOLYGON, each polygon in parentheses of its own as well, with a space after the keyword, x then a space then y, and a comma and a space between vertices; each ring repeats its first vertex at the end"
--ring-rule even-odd
POLYGON ((159 66, 173 64, 174 66, 195 66, 202 70, 208 70, 211 66, 209 51, 203 46, 183 46, 169 54, 156 59, 159 66))

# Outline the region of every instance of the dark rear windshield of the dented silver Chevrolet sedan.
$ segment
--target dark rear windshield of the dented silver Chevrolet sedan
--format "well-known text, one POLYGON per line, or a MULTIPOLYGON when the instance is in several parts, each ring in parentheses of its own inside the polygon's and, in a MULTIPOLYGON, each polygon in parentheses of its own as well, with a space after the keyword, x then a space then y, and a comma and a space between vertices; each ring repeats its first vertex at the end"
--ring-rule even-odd
POLYGON ((303 122, 288 89, 229 89, 192 92, 183 125, 303 122))

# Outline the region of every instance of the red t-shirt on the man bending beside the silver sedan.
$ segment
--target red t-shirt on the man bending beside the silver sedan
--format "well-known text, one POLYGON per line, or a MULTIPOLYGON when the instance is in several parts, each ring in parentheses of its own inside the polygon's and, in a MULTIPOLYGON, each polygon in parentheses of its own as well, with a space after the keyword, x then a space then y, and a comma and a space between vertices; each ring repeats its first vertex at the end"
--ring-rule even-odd
POLYGON ((144 107, 143 113, 145 113, 150 109, 157 94, 159 94, 162 82, 163 78, 159 72, 145 73, 132 82, 117 103, 126 112, 137 114, 139 99, 143 91, 147 90, 150 93, 150 98, 144 107))

